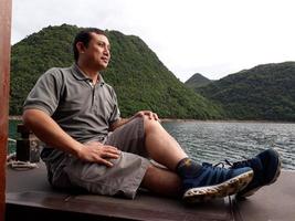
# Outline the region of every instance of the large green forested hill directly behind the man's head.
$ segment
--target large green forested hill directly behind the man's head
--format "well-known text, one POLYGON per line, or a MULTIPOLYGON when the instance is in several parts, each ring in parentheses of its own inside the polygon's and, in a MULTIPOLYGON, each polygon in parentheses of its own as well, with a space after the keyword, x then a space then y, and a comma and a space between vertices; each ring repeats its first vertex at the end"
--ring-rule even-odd
MULTIPOLYGON (((28 93, 48 69, 73 63, 72 41, 80 28, 48 27, 12 46, 10 115, 19 115, 28 93)), ((160 117, 219 118, 221 109, 187 88, 138 36, 107 31, 112 61, 103 73, 124 117, 151 109, 160 117)))

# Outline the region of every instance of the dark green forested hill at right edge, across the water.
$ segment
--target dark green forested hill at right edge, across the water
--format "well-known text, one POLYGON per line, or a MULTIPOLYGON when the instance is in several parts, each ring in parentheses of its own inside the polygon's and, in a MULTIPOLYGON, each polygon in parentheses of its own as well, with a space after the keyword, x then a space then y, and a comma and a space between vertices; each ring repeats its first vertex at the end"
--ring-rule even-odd
POLYGON ((198 93, 222 104, 229 118, 295 120, 295 62, 231 74, 198 93))

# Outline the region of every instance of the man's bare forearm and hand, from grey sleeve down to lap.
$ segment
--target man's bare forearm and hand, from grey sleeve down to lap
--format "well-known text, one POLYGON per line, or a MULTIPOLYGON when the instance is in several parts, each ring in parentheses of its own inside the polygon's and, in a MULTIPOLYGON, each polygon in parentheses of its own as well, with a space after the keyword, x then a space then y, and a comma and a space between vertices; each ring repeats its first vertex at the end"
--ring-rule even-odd
POLYGON ((45 144, 72 154, 85 160, 113 166, 107 159, 118 158, 119 150, 101 143, 81 144, 67 135, 46 113, 40 109, 27 109, 23 113, 24 125, 45 144))

